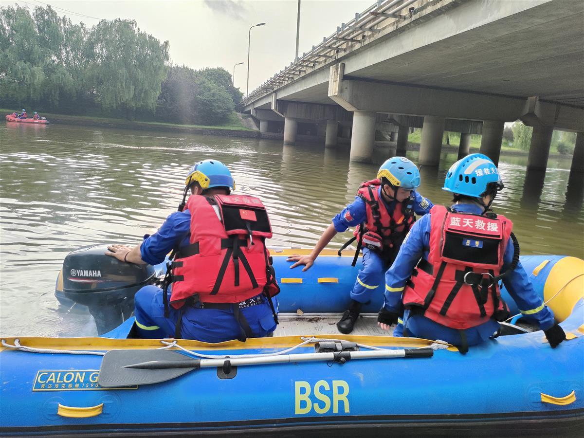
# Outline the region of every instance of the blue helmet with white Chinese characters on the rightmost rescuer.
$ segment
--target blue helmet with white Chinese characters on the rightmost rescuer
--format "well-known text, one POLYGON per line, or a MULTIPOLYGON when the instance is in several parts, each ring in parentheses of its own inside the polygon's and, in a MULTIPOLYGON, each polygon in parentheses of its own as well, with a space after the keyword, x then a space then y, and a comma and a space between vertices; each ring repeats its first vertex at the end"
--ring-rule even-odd
POLYGON ((483 154, 470 154, 450 166, 442 190, 482 197, 488 193, 499 192, 503 182, 497 166, 483 154))

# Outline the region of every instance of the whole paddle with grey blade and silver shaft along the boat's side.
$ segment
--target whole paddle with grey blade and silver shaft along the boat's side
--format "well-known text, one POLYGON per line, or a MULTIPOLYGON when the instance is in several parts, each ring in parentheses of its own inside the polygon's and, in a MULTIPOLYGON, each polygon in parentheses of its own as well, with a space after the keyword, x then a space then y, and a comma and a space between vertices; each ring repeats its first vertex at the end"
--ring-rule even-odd
POLYGON ((367 350, 358 352, 281 354, 267 357, 229 357, 225 359, 193 359, 169 350, 110 350, 103 356, 98 383, 104 388, 150 385, 171 380, 199 368, 294 363, 308 361, 339 361, 376 359, 380 357, 432 357, 432 349, 367 350))

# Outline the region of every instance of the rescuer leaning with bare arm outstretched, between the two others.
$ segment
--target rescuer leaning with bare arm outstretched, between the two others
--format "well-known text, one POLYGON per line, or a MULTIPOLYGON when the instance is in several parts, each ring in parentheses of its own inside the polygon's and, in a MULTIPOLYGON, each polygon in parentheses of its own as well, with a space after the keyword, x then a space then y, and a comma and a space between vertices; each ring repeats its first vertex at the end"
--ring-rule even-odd
MULTIPOLYGON (((405 157, 393 157, 384 162, 377 172, 377 179, 359 186, 353 203, 332 218, 331 225, 322 233, 310 255, 293 255, 288 261, 296 262, 290 267, 305 265, 309 269, 322 249, 338 232, 357 227, 353 232, 357 251, 353 266, 363 248, 363 267, 350 293, 350 304, 337 328, 341 333, 353 331, 359 318, 361 306, 371 300, 371 294, 383 284, 383 275, 395 259, 415 215, 430 211, 433 204, 416 192, 420 185, 420 172, 413 162, 405 157)), ((397 328, 399 331, 399 328, 397 328)))

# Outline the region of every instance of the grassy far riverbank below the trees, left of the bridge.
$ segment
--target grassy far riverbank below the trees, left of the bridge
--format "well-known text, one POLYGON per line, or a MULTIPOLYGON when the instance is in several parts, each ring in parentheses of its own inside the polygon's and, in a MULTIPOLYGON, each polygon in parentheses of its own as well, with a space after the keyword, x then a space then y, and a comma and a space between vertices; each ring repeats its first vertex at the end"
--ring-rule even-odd
MULTIPOLYGON (((11 114, 14 110, 0 109, 4 115, 11 114)), ((42 117, 46 117, 51 123, 58 124, 75 124, 75 125, 86 125, 86 126, 107 126, 107 127, 118 127, 127 129, 147 129, 155 130, 159 128, 162 131, 168 131, 169 129, 176 131, 191 131, 191 130, 220 130, 220 131, 248 131, 253 133, 254 131, 245 127, 241 120, 237 116, 237 113, 232 112, 228 119, 222 123, 215 126, 206 125, 186 125, 178 123, 163 123, 157 121, 141 121, 141 120, 127 120, 127 119, 114 119, 112 117, 99 117, 99 116, 71 116, 69 114, 55 114, 55 113, 41 113, 42 117)))

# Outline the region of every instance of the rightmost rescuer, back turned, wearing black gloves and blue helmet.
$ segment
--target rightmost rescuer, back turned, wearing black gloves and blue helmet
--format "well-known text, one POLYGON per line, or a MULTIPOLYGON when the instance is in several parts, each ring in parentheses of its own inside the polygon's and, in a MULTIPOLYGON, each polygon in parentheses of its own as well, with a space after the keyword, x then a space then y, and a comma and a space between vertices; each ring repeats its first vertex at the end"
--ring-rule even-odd
POLYGON ((454 193, 454 204, 434 206, 410 230, 385 274, 381 328, 395 324, 403 306, 404 334, 444 340, 465 353, 507 319, 502 279, 523 317, 537 321, 552 348, 566 338, 519 263, 512 222, 491 212, 502 189, 486 155, 471 154, 451 166, 443 190, 454 193))

